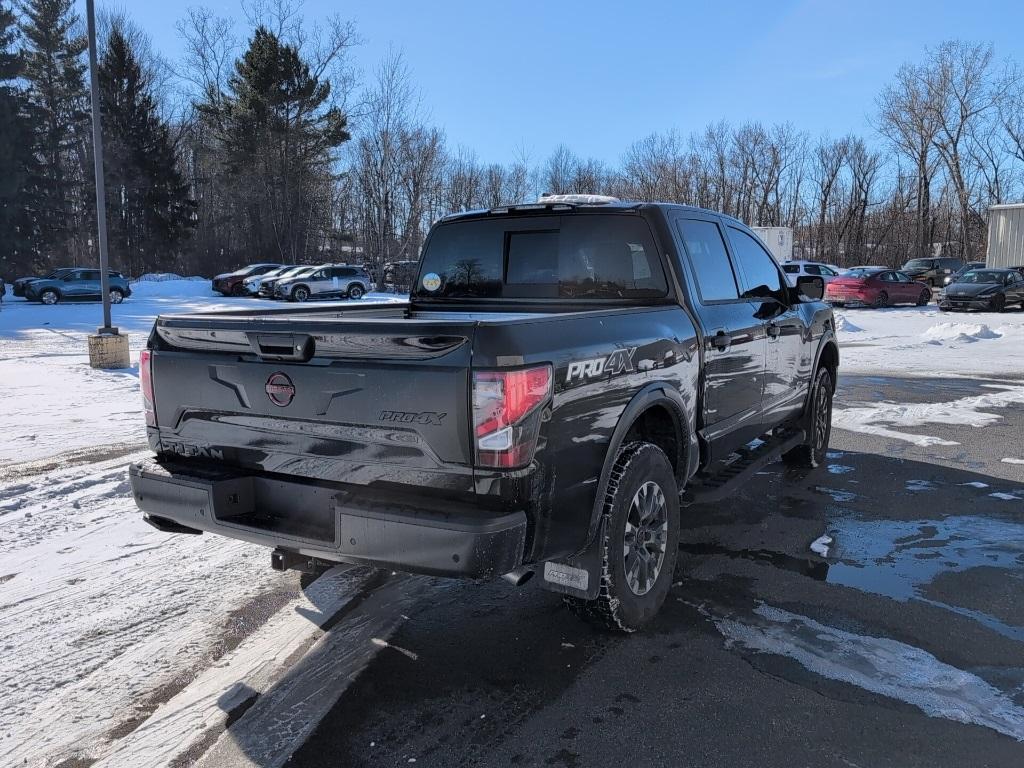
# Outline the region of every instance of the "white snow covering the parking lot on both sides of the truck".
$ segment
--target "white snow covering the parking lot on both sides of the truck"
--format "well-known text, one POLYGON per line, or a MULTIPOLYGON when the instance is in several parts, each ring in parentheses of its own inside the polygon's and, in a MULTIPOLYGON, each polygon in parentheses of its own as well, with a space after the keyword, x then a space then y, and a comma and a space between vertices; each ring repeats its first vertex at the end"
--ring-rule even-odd
MULTIPOLYGON (((267 303, 215 297, 203 281, 133 290, 114 307, 133 364, 160 312, 267 303)), ((364 302, 374 300, 400 297, 364 302)), ((1022 311, 947 315, 933 306, 837 316, 843 373, 1024 373, 1022 311)), ((0 307, 0 765, 101 754, 133 707, 215 654, 226 615, 281 584, 261 548, 169 537, 141 521, 125 478, 145 447, 137 367, 89 368, 86 336, 98 325, 97 303, 8 299, 0 307)), ((992 383, 970 403, 837 410, 837 425, 898 432, 954 412, 957 423, 991 423, 999 418, 992 411, 1024 402, 1024 381, 992 383)))

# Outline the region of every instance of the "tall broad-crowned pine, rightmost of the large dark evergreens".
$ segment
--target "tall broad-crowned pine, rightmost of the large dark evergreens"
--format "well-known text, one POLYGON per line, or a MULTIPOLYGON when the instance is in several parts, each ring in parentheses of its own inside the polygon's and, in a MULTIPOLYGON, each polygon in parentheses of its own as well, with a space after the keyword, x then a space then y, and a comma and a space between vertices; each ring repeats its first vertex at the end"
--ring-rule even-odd
POLYGON ((314 249, 316 217, 330 209, 333 151, 349 138, 346 118, 330 104, 331 83, 263 27, 236 61, 228 91, 198 108, 236 187, 249 254, 301 261, 314 249))

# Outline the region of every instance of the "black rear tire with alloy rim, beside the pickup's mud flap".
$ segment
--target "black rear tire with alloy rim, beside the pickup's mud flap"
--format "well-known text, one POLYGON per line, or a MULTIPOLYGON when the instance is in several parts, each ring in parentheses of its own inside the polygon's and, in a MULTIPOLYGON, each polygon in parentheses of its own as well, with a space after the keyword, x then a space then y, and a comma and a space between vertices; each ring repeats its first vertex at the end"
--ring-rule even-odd
POLYGON ((630 442, 620 449, 608 478, 602 529, 597 599, 566 597, 565 603, 607 629, 635 632, 665 603, 679 554, 679 486, 657 445, 630 442))

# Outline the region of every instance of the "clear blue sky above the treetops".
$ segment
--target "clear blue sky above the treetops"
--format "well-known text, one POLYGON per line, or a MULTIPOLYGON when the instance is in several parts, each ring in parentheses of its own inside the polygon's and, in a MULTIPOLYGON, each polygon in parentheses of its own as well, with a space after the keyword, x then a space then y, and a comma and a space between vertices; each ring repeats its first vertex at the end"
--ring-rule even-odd
MULTIPOLYGON (((79 0, 84 10, 84 0, 79 0)), ((100 0, 100 5, 102 2, 100 0)), ((121 4, 170 58, 189 3, 121 4)), ((206 3, 240 19, 239 0, 206 3)), ((352 18, 371 72, 389 46, 415 73, 453 145, 505 162, 560 142, 615 162, 635 139, 720 119, 790 121, 813 134, 870 132, 902 61, 958 37, 1024 62, 1024 2, 360 2, 306 0, 352 18)))

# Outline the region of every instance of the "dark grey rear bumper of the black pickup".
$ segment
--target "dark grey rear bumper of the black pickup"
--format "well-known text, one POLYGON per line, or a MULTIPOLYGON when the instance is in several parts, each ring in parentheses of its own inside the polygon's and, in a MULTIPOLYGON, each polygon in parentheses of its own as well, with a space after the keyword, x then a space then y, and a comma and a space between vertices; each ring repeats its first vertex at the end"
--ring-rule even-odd
POLYGON ((526 515, 419 494, 297 481, 158 459, 129 468, 147 522, 206 530, 339 562, 489 579, 522 563, 526 515))

